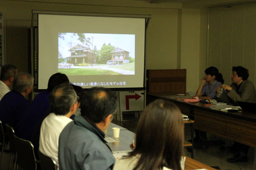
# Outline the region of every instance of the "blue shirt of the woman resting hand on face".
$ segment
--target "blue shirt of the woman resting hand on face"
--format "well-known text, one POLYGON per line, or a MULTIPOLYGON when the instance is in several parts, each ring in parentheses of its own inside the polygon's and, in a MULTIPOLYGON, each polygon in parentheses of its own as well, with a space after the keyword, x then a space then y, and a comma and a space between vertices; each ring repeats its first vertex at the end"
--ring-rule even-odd
POLYGON ((218 86, 221 86, 222 83, 218 82, 217 80, 214 81, 214 83, 209 84, 208 82, 203 86, 202 89, 202 96, 209 96, 211 97, 211 99, 215 99, 217 92, 216 92, 216 88, 218 86))

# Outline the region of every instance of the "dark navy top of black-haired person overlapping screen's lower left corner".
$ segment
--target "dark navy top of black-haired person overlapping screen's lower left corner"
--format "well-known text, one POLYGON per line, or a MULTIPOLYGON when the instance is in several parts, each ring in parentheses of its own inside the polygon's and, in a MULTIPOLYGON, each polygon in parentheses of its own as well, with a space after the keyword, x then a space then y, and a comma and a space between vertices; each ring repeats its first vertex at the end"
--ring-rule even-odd
POLYGON ((31 134, 36 124, 48 109, 49 92, 46 91, 37 94, 26 112, 20 117, 15 134, 20 138, 31 140, 31 134))

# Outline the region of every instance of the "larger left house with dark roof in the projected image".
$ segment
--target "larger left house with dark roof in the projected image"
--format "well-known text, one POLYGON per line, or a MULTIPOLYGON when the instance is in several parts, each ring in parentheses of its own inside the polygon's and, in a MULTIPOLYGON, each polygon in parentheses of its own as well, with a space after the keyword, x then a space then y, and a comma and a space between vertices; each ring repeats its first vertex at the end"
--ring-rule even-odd
POLYGON ((79 65, 82 63, 96 63, 96 52, 91 50, 88 46, 78 43, 76 46, 70 48, 70 57, 67 57, 68 63, 79 65))

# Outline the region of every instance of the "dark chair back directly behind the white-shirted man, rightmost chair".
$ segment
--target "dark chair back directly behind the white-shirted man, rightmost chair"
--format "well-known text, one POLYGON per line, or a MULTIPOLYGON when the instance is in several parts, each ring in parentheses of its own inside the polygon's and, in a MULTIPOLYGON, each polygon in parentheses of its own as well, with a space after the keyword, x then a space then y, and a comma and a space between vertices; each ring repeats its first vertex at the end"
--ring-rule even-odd
POLYGON ((40 167, 41 170, 56 170, 57 165, 54 160, 52 160, 50 157, 42 154, 40 151, 38 151, 39 161, 40 161, 40 167))

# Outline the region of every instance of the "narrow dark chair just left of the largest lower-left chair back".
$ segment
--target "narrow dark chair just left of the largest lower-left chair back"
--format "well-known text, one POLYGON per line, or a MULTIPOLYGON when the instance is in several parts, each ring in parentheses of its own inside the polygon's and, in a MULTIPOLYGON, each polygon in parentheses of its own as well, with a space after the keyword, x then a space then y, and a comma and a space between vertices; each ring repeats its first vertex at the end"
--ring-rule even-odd
POLYGON ((8 124, 6 124, 6 131, 7 131, 7 134, 8 134, 10 151, 11 151, 10 161, 9 161, 9 169, 11 168, 12 155, 14 155, 14 168, 13 169, 16 169, 15 167, 16 167, 16 161, 17 161, 17 153, 16 153, 15 144, 14 144, 14 141, 13 141, 15 133, 14 133, 13 128, 8 124))

